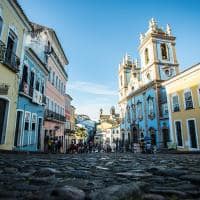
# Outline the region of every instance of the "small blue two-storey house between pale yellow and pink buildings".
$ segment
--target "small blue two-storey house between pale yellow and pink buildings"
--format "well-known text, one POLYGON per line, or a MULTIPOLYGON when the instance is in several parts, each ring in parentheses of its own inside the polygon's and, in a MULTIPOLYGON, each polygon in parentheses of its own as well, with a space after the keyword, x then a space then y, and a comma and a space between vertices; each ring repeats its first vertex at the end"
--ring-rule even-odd
POLYGON ((14 146, 17 150, 41 150, 48 69, 31 48, 25 49, 20 72, 14 146))

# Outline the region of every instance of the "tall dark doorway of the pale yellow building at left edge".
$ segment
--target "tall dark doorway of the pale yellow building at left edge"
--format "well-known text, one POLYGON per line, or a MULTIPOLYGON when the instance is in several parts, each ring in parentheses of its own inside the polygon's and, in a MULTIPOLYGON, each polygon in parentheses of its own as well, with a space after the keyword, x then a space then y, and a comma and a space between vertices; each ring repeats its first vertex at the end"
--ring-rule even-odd
POLYGON ((5 142, 8 101, 0 99, 0 144, 5 142))

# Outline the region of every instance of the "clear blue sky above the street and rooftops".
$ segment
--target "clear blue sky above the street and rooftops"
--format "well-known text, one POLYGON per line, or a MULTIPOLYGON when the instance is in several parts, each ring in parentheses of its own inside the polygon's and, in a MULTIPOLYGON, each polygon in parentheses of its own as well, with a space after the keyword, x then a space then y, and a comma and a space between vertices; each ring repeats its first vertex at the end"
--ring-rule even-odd
POLYGON ((69 59, 67 92, 77 113, 98 119, 118 102, 118 64, 139 57, 139 34, 154 17, 177 37, 180 68, 200 62, 199 0, 19 0, 31 21, 57 32, 69 59))

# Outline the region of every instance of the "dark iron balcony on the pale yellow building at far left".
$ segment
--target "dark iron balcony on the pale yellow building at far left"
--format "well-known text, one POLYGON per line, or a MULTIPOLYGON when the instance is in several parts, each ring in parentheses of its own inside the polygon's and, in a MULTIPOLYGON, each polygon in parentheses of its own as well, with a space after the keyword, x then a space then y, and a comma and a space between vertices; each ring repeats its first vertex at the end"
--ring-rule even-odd
POLYGON ((20 59, 0 40, 0 62, 14 72, 19 71, 20 59))

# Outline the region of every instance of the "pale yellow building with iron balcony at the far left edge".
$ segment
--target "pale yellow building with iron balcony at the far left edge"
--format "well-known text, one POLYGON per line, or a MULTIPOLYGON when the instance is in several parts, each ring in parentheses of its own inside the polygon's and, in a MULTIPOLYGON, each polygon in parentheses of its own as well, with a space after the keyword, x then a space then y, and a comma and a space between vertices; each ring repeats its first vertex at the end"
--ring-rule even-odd
POLYGON ((23 59, 23 40, 31 25, 13 0, 0 1, 0 149, 14 146, 18 72, 23 59))

